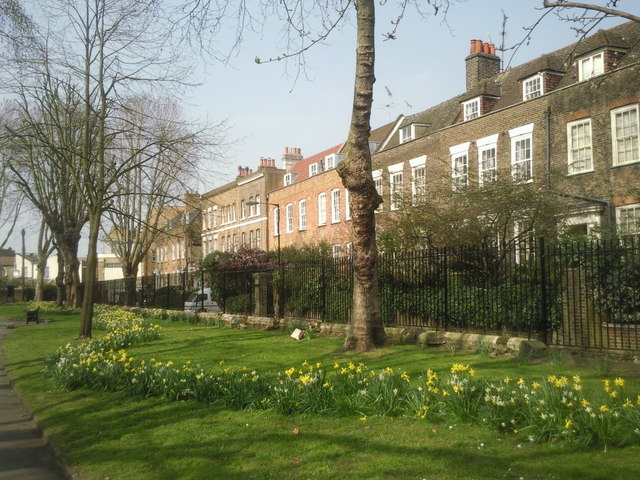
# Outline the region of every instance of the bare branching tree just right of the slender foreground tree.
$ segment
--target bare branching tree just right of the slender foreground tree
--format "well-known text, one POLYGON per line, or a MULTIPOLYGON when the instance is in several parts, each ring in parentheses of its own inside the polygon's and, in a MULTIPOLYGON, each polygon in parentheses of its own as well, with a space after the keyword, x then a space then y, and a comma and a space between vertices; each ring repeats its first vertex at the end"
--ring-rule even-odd
POLYGON ((130 107, 114 144, 136 161, 113 185, 105 236, 122 264, 127 305, 135 303, 138 267, 160 233, 164 207, 188 188, 194 158, 202 154, 199 133, 180 121, 174 102, 144 96, 130 107), (149 143, 152 148, 145 148, 149 143))

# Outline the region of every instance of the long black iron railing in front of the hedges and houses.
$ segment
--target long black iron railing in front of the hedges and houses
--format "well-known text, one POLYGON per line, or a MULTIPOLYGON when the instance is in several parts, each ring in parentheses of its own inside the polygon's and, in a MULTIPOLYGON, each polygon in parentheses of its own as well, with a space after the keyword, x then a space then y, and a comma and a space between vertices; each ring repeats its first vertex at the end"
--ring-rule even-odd
MULTIPOLYGON (((553 245, 531 239, 509 248, 382 254, 378 277, 385 325, 517 334, 572 347, 639 349, 638 238, 553 245)), ((135 303, 182 309, 185 298, 203 285, 212 289, 226 313, 262 309, 262 314, 274 315, 274 305, 282 302, 285 317, 334 323, 351 318, 353 269, 346 258, 138 278, 135 303)), ((124 280, 99 282, 95 298, 123 304, 125 290, 124 280)))

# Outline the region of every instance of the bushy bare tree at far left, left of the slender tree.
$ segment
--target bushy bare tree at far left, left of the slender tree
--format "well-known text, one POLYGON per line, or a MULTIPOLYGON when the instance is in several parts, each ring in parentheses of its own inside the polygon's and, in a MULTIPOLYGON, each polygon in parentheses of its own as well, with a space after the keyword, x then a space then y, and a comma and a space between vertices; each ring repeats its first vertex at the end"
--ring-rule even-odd
POLYGON ((71 175, 82 140, 80 108, 72 86, 43 73, 39 84, 23 85, 0 137, 11 151, 12 181, 40 211, 64 259, 64 291, 73 306, 80 302, 78 245, 88 219, 71 175))

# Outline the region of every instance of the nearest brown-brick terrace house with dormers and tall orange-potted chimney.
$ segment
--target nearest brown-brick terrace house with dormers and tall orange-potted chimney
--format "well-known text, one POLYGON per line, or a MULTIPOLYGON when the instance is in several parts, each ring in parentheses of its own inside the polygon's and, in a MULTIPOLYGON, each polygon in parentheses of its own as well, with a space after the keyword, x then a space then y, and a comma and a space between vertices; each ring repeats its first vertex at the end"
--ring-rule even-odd
POLYGON ((640 25, 505 71, 473 40, 466 67, 465 92, 400 119, 373 155, 383 218, 436 179, 502 177, 574 199, 564 221, 581 233, 640 233, 640 25))

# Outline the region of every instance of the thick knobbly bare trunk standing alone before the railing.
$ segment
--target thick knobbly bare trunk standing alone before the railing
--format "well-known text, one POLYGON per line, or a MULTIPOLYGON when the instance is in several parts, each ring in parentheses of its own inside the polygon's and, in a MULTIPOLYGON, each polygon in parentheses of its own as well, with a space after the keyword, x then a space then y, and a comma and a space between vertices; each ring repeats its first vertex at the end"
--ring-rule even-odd
POLYGON ((378 297, 375 209, 382 199, 371 175, 371 105, 373 103, 374 27, 373 0, 358 0, 356 79, 353 112, 345 160, 338 166, 342 182, 349 189, 353 240, 353 311, 343 350, 365 351, 386 342, 378 297))

